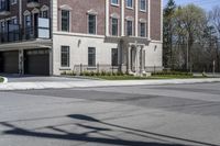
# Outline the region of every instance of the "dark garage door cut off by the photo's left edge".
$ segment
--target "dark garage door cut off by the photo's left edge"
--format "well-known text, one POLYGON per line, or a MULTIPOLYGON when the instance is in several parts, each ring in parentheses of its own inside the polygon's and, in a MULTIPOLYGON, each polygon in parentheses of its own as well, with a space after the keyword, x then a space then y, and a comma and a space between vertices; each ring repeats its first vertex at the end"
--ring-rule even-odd
POLYGON ((1 52, 0 64, 1 72, 19 74, 19 52, 1 52))

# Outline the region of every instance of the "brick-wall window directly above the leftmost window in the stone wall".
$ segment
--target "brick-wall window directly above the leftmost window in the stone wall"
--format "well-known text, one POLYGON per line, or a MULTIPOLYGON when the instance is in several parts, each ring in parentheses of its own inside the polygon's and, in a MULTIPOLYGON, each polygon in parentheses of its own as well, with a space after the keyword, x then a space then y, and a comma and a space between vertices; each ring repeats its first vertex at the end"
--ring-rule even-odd
POLYGON ((69 11, 62 10, 62 31, 69 32, 69 11))

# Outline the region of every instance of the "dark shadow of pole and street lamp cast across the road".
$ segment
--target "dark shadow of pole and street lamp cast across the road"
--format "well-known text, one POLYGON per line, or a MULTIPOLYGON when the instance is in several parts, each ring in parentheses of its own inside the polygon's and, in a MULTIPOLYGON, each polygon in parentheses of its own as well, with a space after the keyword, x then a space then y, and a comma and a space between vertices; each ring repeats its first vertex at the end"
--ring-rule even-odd
POLYGON ((108 145, 121 145, 121 146, 184 146, 180 144, 172 144, 166 139, 175 139, 194 144, 202 144, 207 146, 217 146, 208 143, 195 142, 190 139, 178 138, 174 136, 167 136, 145 131, 140 131, 131 127, 114 125, 110 123, 102 122, 91 116, 82 115, 82 114, 72 114, 67 115, 70 119, 80 120, 87 122, 87 124, 76 124, 78 127, 86 128, 87 132, 84 133, 73 133, 61 130, 56 126, 48 126, 47 128, 53 130, 57 133, 45 133, 45 132, 35 132, 25 128, 18 127, 8 122, 0 123, 3 126, 10 127, 11 130, 4 131, 6 135, 18 135, 18 136, 28 136, 28 137, 38 137, 38 138, 53 138, 53 139, 63 139, 63 141, 75 141, 75 142, 85 142, 85 143, 98 143, 98 144, 108 144, 108 145), (99 126, 92 126, 91 124, 98 124, 99 126), (106 126, 106 127, 105 127, 106 126), (108 128, 107 128, 108 126, 108 128), (112 127, 112 128, 111 128, 112 127), (117 128, 117 130, 116 130, 117 128), (118 131, 119 130, 119 131, 118 131), (133 136, 141 136, 145 138, 154 139, 155 142, 140 142, 140 141, 131 141, 131 139, 122 139, 117 136, 109 135, 105 132, 122 132, 124 134, 130 134, 133 136), (100 136, 90 136, 89 134, 96 134, 100 136), (160 142, 160 143, 158 143, 160 142))

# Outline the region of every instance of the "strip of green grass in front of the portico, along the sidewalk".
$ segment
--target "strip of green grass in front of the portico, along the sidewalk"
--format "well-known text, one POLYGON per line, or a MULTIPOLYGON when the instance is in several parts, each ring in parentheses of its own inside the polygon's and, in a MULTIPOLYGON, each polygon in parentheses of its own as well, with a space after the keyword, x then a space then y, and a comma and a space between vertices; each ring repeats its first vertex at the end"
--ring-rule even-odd
POLYGON ((98 79, 105 80, 153 80, 153 79, 195 79, 195 78, 206 78, 206 77, 194 77, 194 76, 151 76, 151 77, 134 77, 134 76, 95 76, 98 79))

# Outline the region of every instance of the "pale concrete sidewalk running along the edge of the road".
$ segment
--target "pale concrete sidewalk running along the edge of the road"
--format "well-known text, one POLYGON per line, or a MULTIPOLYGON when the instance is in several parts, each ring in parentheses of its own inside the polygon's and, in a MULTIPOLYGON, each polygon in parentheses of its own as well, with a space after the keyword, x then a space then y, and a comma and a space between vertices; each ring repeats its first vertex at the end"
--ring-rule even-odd
POLYGON ((179 83, 220 82, 220 78, 208 79, 163 79, 163 80, 84 80, 84 81, 38 81, 1 83, 0 90, 62 89, 87 87, 143 86, 143 85, 179 85, 179 83))

